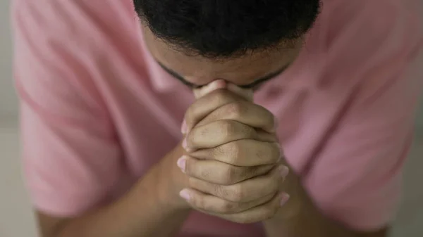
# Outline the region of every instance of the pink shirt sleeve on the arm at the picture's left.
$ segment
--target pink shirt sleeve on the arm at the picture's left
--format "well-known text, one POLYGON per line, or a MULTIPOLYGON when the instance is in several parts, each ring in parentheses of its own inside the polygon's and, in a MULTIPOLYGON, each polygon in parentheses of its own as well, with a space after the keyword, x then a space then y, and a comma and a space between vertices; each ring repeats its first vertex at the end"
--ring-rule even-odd
POLYGON ((104 202, 121 149, 63 2, 13 1, 12 21, 27 188, 37 210, 70 217, 104 202))

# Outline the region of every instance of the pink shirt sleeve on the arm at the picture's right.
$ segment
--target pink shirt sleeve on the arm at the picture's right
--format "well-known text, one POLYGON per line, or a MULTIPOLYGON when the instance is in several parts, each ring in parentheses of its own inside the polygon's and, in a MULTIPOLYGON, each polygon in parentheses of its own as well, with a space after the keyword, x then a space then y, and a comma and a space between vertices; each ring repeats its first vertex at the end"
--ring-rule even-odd
POLYGON ((389 27, 400 30, 377 44, 381 50, 372 53, 372 60, 362 59, 367 69, 304 180, 325 214, 357 230, 389 225, 400 200, 401 172, 412 145, 423 80, 416 60, 421 34, 415 34, 416 28, 404 34, 404 27, 415 21, 403 23, 389 27))

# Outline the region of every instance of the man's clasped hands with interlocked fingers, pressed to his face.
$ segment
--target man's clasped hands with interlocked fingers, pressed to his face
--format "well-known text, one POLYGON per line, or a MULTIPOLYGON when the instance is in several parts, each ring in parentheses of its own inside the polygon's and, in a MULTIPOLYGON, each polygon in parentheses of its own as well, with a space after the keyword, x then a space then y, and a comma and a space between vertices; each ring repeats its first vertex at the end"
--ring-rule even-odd
POLYGON ((288 167, 282 165, 274 115, 252 103, 251 93, 231 87, 202 88, 185 114, 186 155, 177 164, 189 178, 180 196, 200 212, 260 222, 288 200, 281 192, 288 167))

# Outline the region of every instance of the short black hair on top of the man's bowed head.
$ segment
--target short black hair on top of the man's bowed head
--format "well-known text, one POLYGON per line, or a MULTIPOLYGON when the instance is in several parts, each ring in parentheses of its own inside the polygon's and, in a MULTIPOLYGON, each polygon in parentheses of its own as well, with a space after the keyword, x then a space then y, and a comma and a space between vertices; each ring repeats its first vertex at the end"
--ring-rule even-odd
POLYGON ((271 49, 305 34, 319 0, 133 0, 142 23, 171 46, 207 58, 271 49))

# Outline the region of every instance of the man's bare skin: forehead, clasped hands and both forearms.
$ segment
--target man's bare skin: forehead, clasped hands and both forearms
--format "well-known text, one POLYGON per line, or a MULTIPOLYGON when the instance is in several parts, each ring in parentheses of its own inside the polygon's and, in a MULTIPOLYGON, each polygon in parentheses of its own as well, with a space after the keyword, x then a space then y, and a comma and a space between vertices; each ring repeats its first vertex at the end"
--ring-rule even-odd
POLYGON ((37 212, 42 236, 173 236, 191 210, 263 222, 268 237, 386 236, 386 229, 348 229, 314 207, 283 158, 274 116, 252 99, 263 78, 293 63, 302 39, 274 51, 211 60, 175 50, 144 30, 152 56, 197 98, 185 113, 185 139, 114 203, 73 218, 37 212))

